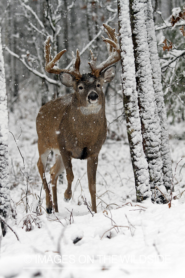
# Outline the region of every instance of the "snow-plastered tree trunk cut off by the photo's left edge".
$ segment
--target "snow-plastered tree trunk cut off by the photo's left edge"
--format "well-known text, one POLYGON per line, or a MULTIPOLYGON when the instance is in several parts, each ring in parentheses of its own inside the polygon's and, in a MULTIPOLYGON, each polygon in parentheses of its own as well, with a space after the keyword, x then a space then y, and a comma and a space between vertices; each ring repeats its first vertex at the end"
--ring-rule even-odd
MULTIPOLYGON (((10 188, 8 181, 8 111, 0 28, 0 216, 7 219, 9 213, 10 188)), ((6 224, 2 221, 2 219, 1 228, 4 236, 6 234, 6 224)))

